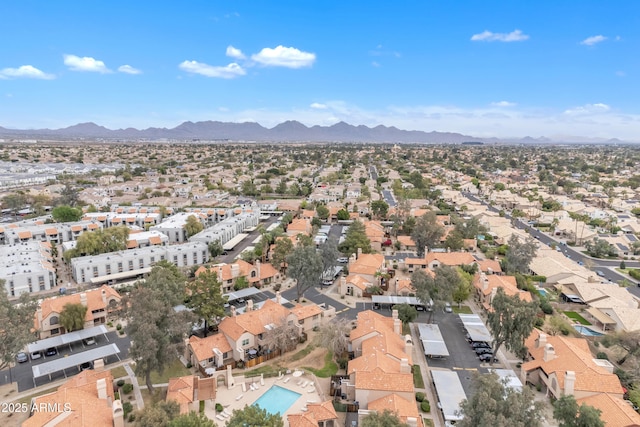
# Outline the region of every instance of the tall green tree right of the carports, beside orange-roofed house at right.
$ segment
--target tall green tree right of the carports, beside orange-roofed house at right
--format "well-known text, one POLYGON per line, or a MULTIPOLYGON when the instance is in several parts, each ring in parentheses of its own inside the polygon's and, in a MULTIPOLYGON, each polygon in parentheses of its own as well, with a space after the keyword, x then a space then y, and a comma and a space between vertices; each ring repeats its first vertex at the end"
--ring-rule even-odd
POLYGON ((493 311, 488 314, 487 327, 493 335, 493 354, 498 354, 502 345, 511 352, 520 352, 533 330, 538 304, 521 300, 518 295, 507 295, 498 288, 491 306, 493 311))

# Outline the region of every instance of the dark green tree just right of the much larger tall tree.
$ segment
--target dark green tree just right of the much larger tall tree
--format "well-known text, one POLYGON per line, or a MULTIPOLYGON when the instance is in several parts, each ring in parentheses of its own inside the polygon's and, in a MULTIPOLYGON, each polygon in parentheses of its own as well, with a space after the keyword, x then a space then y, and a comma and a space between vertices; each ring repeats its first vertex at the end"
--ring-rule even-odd
POLYGON ((224 316, 226 299, 222 296, 218 274, 205 270, 195 280, 187 283, 188 299, 186 306, 193 310, 198 320, 204 320, 204 336, 207 336, 209 325, 218 322, 224 316))

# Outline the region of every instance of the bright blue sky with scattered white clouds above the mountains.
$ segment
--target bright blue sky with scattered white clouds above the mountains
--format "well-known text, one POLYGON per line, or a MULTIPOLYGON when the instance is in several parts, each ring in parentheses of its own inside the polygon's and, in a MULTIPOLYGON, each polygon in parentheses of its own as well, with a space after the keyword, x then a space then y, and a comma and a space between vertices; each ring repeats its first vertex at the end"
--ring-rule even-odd
POLYGON ((3 0, 0 126, 640 141, 640 2, 3 0))

